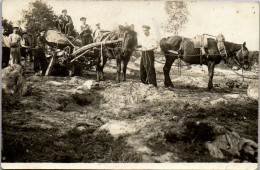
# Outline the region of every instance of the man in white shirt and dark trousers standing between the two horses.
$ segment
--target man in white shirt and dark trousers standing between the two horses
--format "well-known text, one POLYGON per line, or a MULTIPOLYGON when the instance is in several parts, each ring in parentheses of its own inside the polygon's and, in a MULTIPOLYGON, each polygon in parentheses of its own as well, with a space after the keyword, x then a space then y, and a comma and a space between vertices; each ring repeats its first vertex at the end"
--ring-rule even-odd
POLYGON ((154 68, 154 51, 157 47, 157 41, 150 34, 150 26, 143 25, 144 36, 141 39, 142 58, 140 63, 140 78, 144 84, 152 84, 157 87, 156 73, 154 68))

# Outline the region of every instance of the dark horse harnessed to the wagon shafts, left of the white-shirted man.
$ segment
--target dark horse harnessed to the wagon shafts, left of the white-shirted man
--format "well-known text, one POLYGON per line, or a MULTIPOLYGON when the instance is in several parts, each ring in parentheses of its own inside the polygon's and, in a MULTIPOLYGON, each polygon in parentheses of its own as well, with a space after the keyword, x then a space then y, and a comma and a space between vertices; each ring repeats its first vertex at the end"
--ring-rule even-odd
POLYGON ((101 41, 104 39, 105 40, 121 39, 122 43, 120 46, 118 44, 110 44, 104 46, 102 48, 103 57, 102 56, 100 57, 101 50, 97 51, 97 55, 99 55, 99 57, 96 57, 97 81, 104 80, 103 69, 108 58, 116 59, 116 63, 117 63, 116 82, 118 83, 120 82, 121 64, 123 63, 123 81, 125 81, 127 64, 130 60, 130 57, 135 47, 137 46, 137 33, 129 27, 120 26, 119 30, 111 32, 107 36, 104 36, 104 38, 102 38, 101 41))

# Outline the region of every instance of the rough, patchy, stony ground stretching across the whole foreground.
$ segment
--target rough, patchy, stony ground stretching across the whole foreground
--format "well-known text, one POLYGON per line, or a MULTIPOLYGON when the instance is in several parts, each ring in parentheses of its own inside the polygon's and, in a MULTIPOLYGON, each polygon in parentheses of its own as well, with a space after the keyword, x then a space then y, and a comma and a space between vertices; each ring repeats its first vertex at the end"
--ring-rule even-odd
POLYGON ((216 127, 257 142, 258 102, 247 96, 256 80, 217 66, 209 92, 206 66, 184 66, 181 76, 173 66, 175 87, 168 89, 163 64, 155 62, 156 89, 140 83, 139 63, 133 57, 127 81, 117 84, 115 61, 108 61, 106 80, 83 96, 75 89, 95 80, 93 71, 82 77, 25 74, 27 94, 2 111, 2 161, 256 162, 224 149, 212 156, 206 145, 216 140, 216 127))

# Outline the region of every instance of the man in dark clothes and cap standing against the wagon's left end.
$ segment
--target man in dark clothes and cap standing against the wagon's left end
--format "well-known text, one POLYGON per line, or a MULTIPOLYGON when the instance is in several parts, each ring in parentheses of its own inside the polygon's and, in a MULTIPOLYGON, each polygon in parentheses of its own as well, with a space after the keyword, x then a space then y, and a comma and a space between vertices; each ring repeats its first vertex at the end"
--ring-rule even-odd
POLYGON ((37 72, 41 69, 43 76, 48 67, 47 58, 45 56, 45 46, 46 44, 51 46, 51 43, 49 43, 45 38, 45 32, 45 29, 40 31, 40 36, 37 38, 36 49, 34 50, 34 71, 36 74, 39 74, 37 72), (41 68, 39 68, 39 66, 41 66, 41 68))

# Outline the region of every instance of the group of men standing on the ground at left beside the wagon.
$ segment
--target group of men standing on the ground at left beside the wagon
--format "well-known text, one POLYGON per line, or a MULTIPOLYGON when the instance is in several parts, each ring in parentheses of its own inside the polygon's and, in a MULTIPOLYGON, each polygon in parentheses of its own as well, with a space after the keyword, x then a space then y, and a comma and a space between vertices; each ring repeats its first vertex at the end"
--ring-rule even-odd
POLYGON ((21 57, 23 56, 27 60, 30 55, 30 61, 34 61, 34 71, 36 74, 41 71, 42 75, 47 70, 47 59, 45 56, 45 45, 50 43, 45 39, 45 29, 40 30, 40 36, 37 38, 36 47, 32 50, 32 47, 28 44, 26 33, 19 33, 19 27, 13 27, 13 33, 8 35, 8 31, 2 28, 2 68, 8 65, 21 64, 21 57), (32 57, 34 56, 34 57, 32 57))

